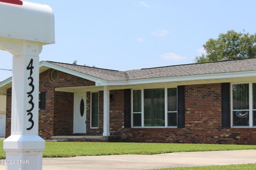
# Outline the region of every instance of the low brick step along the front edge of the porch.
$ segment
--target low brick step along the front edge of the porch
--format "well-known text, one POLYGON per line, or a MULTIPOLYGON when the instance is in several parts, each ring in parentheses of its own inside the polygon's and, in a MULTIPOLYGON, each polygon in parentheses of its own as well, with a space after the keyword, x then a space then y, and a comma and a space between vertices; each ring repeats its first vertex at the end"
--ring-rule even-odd
POLYGON ((52 140, 61 142, 107 142, 108 137, 103 136, 53 136, 52 140))

